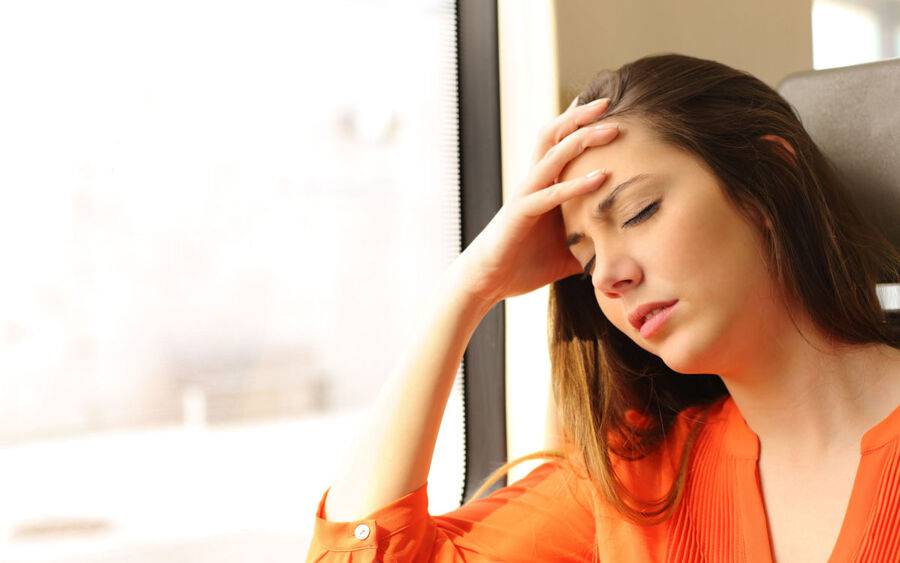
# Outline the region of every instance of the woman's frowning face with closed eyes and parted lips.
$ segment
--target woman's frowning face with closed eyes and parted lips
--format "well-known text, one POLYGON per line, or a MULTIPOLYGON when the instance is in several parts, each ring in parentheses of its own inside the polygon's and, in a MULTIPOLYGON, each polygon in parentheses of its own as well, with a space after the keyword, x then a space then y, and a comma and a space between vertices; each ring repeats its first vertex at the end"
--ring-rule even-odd
POLYGON ((584 235, 570 251, 589 267, 604 315, 639 346, 681 373, 726 372, 786 315, 773 297, 762 240, 702 160, 661 144, 635 119, 610 121, 621 124, 618 138, 586 150, 559 177, 608 173, 598 190, 560 207, 567 238, 584 235), (637 175, 647 176, 619 191, 602 220, 591 218, 637 175), (639 305, 674 299, 654 334, 645 338, 629 323, 639 305))

